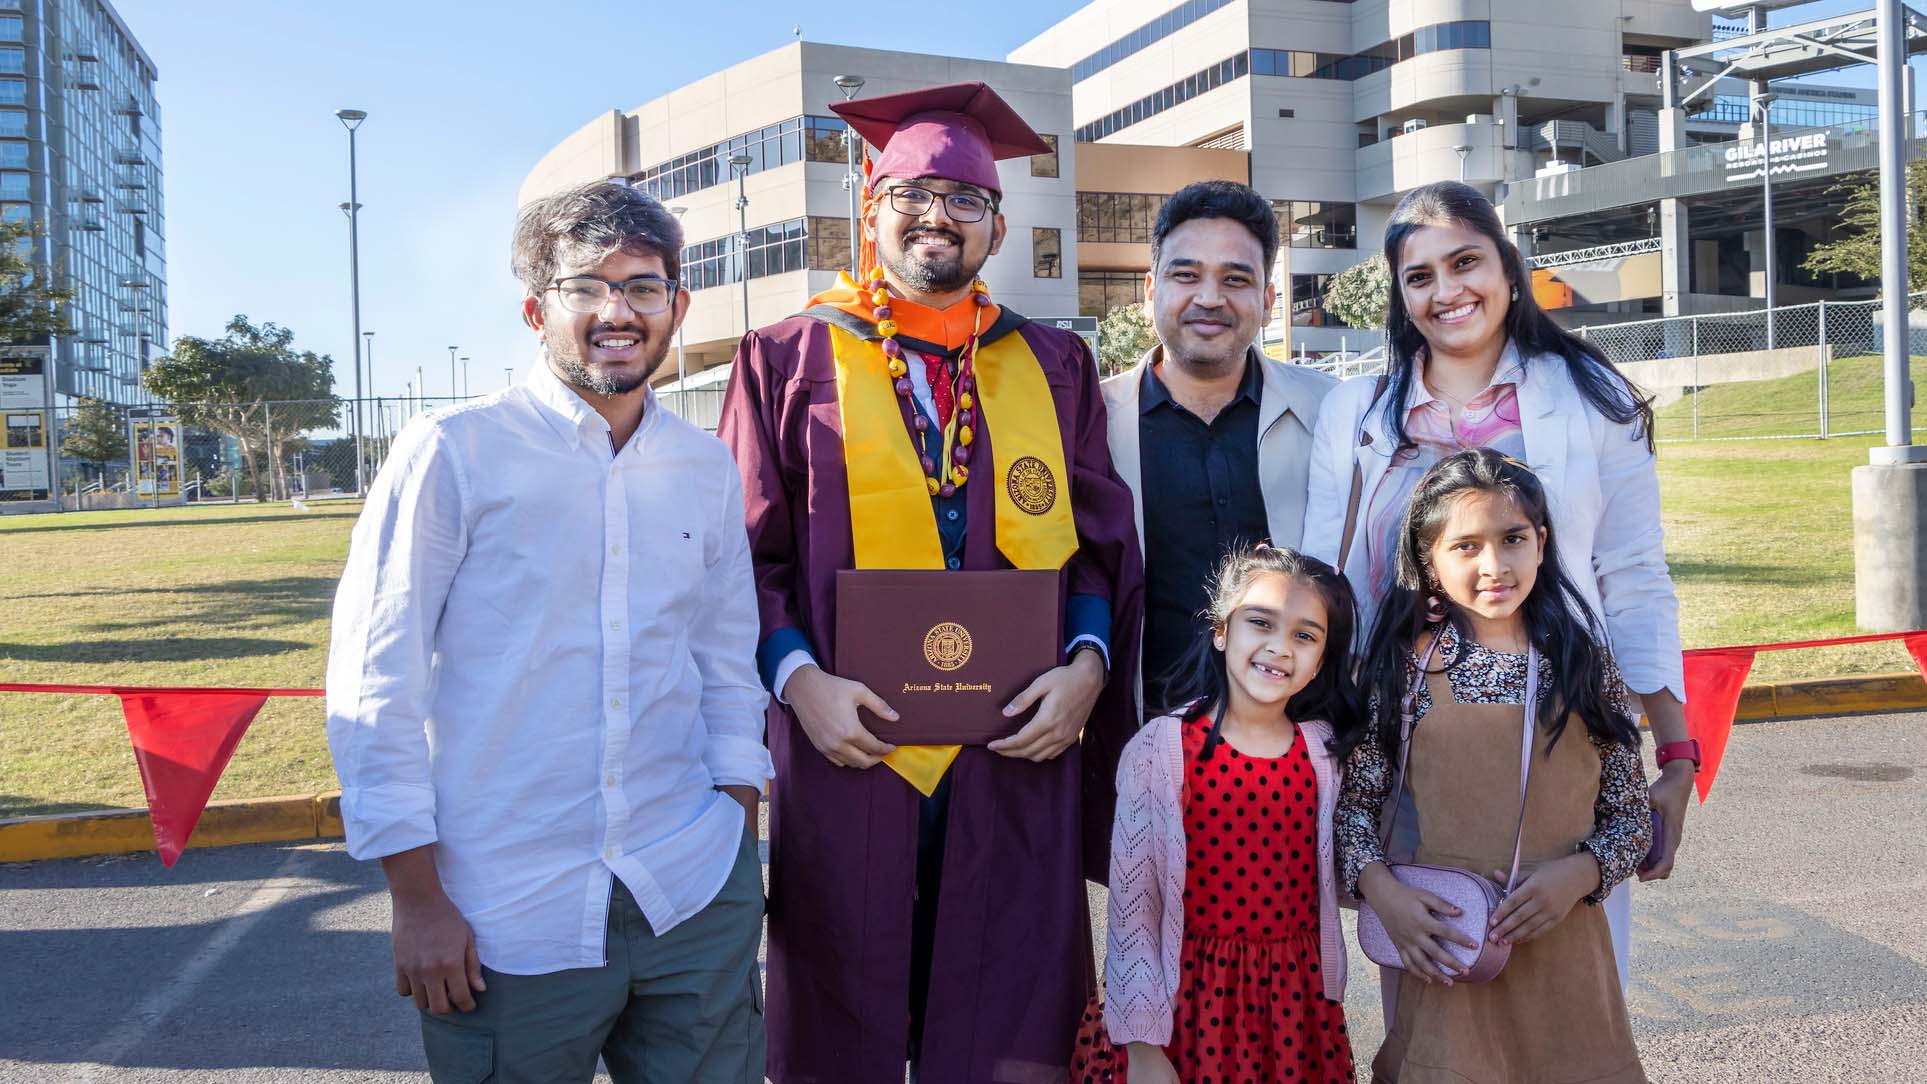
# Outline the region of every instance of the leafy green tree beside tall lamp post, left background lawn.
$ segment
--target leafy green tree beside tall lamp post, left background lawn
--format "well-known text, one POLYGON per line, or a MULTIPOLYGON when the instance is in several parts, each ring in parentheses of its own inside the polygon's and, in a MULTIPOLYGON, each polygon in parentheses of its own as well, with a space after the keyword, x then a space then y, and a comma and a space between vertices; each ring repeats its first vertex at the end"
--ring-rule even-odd
POLYGON ((227 322, 220 339, 183 335, 173 354, 154 362, 143 381, 189 426, 227 433, 241 445, 256 501, 287 493, 285 452, 308 429, 335 426, 333 358, 295 350, 295 333, 247 316, 227 322), (262 460, 268 483, 262 485, 262 460))

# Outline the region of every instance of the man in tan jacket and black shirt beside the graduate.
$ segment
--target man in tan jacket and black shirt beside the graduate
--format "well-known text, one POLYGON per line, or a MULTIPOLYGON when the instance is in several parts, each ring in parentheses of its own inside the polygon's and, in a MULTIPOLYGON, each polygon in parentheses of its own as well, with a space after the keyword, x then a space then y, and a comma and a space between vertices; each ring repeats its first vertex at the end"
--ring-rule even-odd
POLYGON ((1276 256, 1278 218, 1256 191, 1179 189, 1158 212, 1145 277, 1158 345, 1102 385, 1145 553, 1147 716, 1179 707, 1166 703, 1170 670, 1202 628, 1220 558, 1303 533, 1312 426, 1337 381, 1254 347, 1278 298, 1276 256))

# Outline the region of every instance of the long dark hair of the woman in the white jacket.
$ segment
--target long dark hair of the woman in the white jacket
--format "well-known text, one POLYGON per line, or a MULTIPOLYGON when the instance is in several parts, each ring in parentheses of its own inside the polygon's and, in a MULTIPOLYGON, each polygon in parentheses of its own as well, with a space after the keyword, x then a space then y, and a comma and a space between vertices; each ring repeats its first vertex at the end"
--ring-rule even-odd
POLYGON ((1526 379, 1532 379, 1532 358, 1542 354, 1565 358, 1567 374, 1571 374, 1572 387, 1578 389, 1580 397, 1609 422, 1630 424, 1634 439, 1644 439, 1646 447, 1653 447, 1651 399, 1626 383, 1626 377, 1605 360, 1605 354, 1597 347, 1559 327, 1551 316, 1545 316, 1545 310, 1532 297, 1532 273, 1526 271, 1526 262, 1518 256, 1518 246, 1513 245, 1505 235, 1505 227, 1499 225, 1499 214, 1491 210, 1491 202, 1478 189, 1457 181, 1439 181, 1412 189, 1391 210, 1391 221, 1386 223, 1386 266, 1391 270, 1391 302, 1386 308, 1386 350, 1389 360, 1386 372, 1391 374, 1391 383, 1380 400, 1386 404, 1391 447, 1397 451, 1411 447, 1411 439, 1405 435, 1405 410, 1395 410, 1389 404, 1405 402, 1405 397, 1412 389, 1412 379, 1418 377, 1418 366, 1414 364, 1418 350, 1426 345, 1424 335, 1418 333, 1418 325, 1412 323, 1412 316, 1405 308, 1399 260, 1405 256, 1405 239, 1414 229, 1443 223, 1463 225, 1480 233, 1499 250, 1499 264, 1505 268, 1505 277, 1513 283, 1515 295, 1511 308, 1505 312, 1505 333, 1518 347, 1520 362, 1528 366, 1526 379))

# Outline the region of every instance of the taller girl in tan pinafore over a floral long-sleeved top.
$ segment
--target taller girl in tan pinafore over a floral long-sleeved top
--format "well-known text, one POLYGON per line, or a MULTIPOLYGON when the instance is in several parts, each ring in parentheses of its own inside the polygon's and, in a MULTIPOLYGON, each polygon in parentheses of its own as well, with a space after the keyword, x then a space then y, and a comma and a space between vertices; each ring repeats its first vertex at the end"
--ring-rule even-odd
POLYGON ((1538 477, 1486 449, 1439 460, 1407 510, 1397 581, 1362 672, 1370 722, 1349 736, 1335 824, 1339 886, 1372 903, 1405 965, 1372 1061, 1382 1084, 1646 1080, 1597 907, 1651 843, 1640 736, 1547 522, 1538 477), (1380 818, 1393 795, 1407 695, 1418 849, 1391 859, 1459 866, 1503 888, 1520 839, 1518 886, 1486 934, 1511 945, 1511 959, 1490 982, 1455 982, 1443 942, 1459 936, 1439 920, 1451 905, 1401 884, 1386 865, 1380 818))

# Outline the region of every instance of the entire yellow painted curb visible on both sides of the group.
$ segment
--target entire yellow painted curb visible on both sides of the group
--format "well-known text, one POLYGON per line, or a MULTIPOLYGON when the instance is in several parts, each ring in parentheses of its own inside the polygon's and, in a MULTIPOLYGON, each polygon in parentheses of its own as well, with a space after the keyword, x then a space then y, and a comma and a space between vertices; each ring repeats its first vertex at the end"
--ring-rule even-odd
MULTIPOLYGON (((1806 718, 1815 714, 1863 714, 1927 710, 1927 682, 1919 674, 1869 674, 1811 678, 1746 685, 1738 722, 1806 718)), ((249 797, 208 803, 189 847, 231 843, 279 843, 287 839, 339 839, 341 791, 295 797, 249 797)), ((154 849, 154 826, 145 809, 112 813, 56 813, 0 820, 0 863, 85 859, 154 849)))

